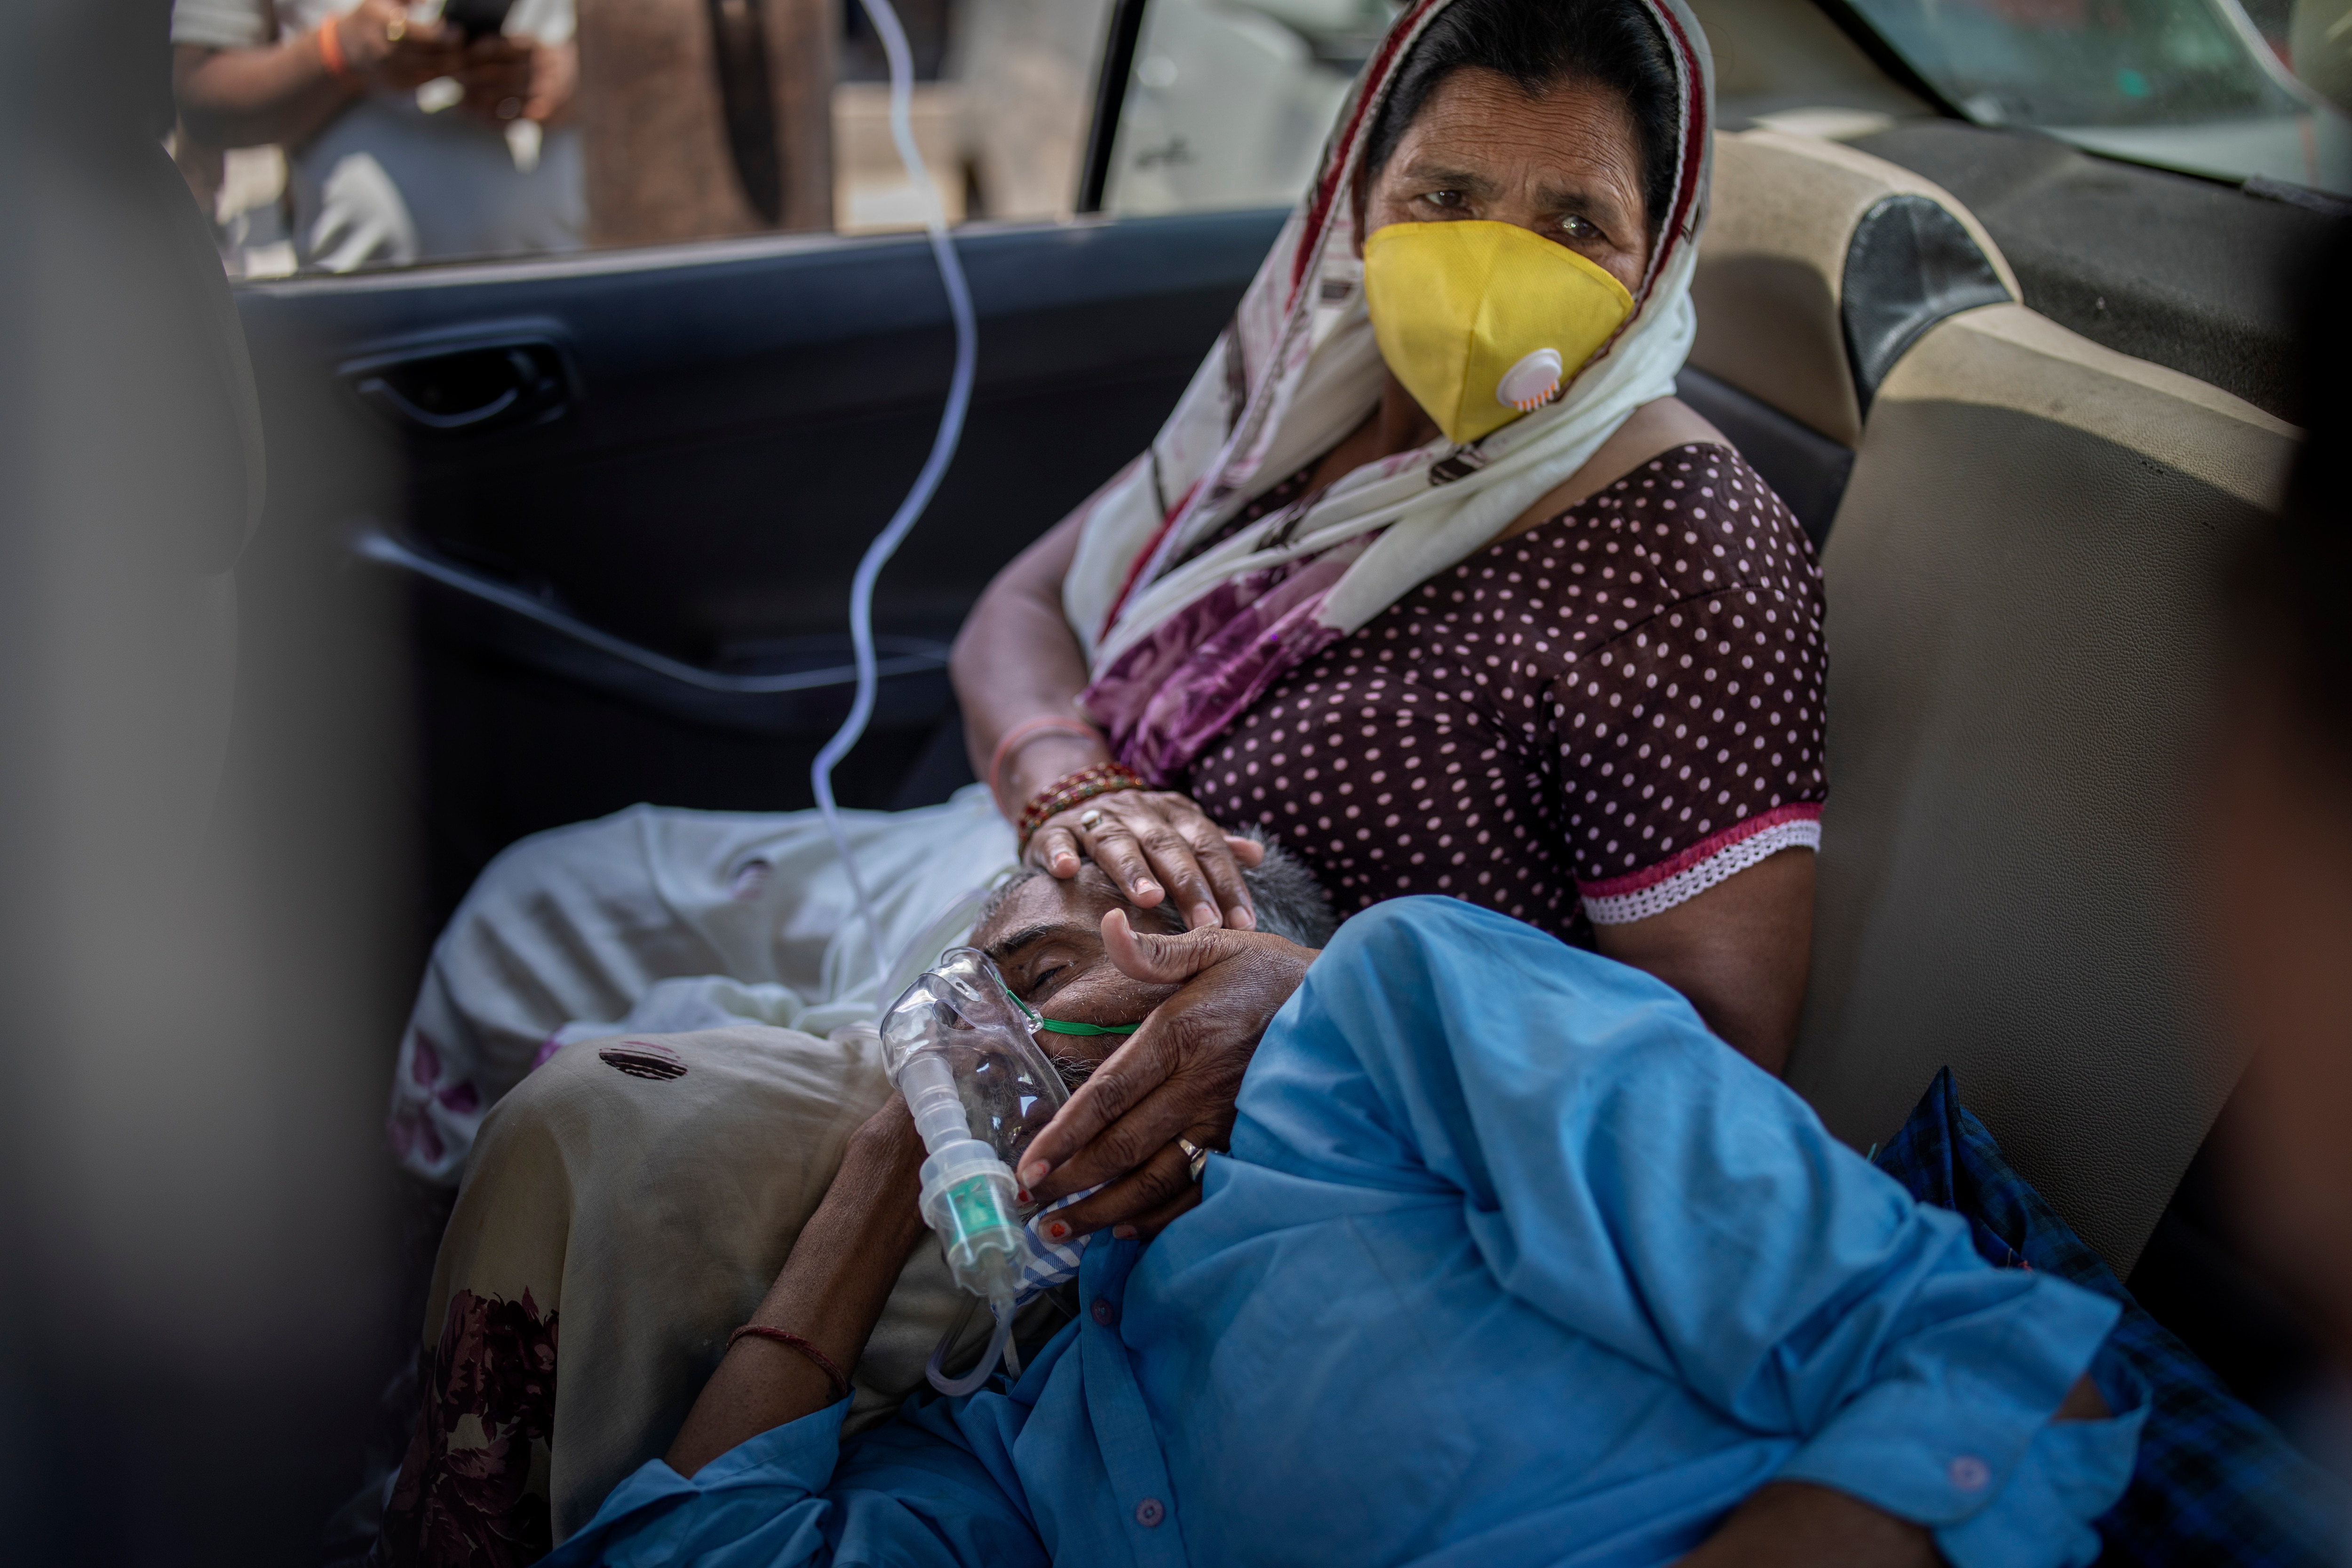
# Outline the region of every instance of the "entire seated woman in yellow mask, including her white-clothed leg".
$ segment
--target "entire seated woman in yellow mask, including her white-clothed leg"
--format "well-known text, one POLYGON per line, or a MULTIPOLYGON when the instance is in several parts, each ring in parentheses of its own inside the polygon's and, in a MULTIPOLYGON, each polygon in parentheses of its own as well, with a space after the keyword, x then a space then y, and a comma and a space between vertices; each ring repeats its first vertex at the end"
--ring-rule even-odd
MULTIPOLYGON (((1216 823, 1256 825, 1343 914, 1468 898, 1661 976, 1780 1065, 1825 790, 1820 578, 1672 397, 1708 73, 1682 0, 1404 9, 1150 451, 974 609, 955 679, 993 804, 856 813, 882 959, 1014 853, 1249 926, 1258 851, 1216 823)), ((844 886, 802 816, 637 811, 517 846, 435 952, 402 1159, 454 1180, 550 1032, 699 1027, 654 1006, 696 978, 811 1034, 873 1016, 844 886)), ((1042 1192, 1108 1182, 1080 1232, 1162 1220, 1192 1192, 1176 1140, 1230 1124, 1265 1016, 1200 985, 1103 1077, 1122 1098, 1080 1095, 1040 1143, 1042 1192)))

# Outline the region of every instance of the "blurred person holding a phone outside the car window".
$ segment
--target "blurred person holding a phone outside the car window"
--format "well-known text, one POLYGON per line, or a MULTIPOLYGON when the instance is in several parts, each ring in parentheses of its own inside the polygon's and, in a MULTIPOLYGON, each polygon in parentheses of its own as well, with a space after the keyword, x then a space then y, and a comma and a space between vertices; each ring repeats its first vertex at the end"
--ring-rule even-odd
POLYGON ((308 270, 581 244, 572 0, 174 0, 172 82, 202 146, 287 148, 308 270))

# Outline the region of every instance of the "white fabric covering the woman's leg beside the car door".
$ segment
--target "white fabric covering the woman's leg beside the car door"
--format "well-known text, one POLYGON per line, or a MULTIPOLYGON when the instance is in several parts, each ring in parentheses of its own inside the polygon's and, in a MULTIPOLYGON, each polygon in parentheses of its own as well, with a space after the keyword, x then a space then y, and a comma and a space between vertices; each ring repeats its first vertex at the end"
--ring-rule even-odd
MULTIPOLYGON (((884 957, 1014 860, 983 785, 922 811, 844 811, 884 957)), ((550 1044, 764 1023, 826 1037, 884 997, 814 811, 630 806, 508 846, 433 947, 393 1074, 400 1164, 456 1182, 482 1114, 550 1044)))

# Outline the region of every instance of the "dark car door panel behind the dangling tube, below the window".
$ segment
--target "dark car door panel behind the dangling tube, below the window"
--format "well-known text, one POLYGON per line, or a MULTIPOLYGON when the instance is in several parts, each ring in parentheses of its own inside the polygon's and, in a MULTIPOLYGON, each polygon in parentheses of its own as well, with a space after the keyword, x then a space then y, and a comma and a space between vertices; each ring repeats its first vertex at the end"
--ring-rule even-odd
MULTIPOLYGON (((946 642, 1150 440, 1279 219, 957 233, 974 402, 877 590, 882 705, 844 802, 903 802, 927 745, 927 790, 953 785, 946 642)), ((536 827, 809 804, 849 705, 849 578, 953 362, 920 235, 299 277, 240 313, 273 449, 346 454, 292 473, 270 524, 343 531, 409 595, 433 917, 536 827)))

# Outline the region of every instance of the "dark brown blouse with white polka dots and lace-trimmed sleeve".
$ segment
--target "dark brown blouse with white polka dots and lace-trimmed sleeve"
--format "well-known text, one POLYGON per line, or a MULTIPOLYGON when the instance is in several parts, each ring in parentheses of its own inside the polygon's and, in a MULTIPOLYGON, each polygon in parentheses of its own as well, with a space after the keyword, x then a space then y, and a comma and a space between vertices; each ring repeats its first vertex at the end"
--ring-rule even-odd
POLYGON ((1804 529, 1693 444, 1284 675, 1190 792, 1287 839, 1341 914, 1451 893, 1576 938, 1818 844, 1823 675, 1804 529))

